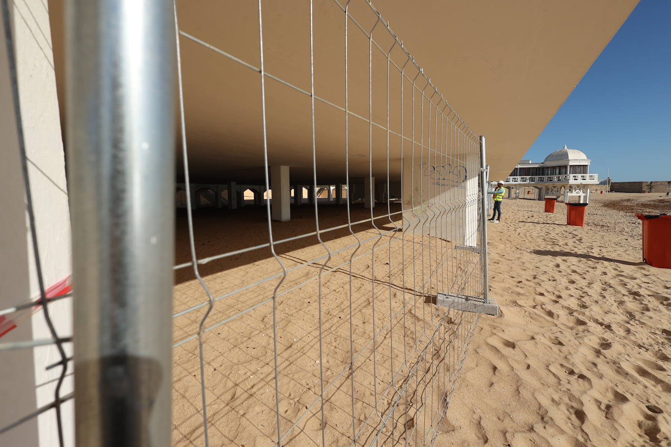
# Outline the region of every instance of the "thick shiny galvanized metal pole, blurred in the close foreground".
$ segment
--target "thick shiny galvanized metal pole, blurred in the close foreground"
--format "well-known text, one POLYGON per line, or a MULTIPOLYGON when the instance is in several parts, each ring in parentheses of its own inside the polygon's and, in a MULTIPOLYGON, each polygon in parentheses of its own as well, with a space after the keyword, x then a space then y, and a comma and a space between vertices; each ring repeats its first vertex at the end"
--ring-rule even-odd
POLYGON ((169 446, 174 16, 164 0, 68 0, 77 446, 169 446))

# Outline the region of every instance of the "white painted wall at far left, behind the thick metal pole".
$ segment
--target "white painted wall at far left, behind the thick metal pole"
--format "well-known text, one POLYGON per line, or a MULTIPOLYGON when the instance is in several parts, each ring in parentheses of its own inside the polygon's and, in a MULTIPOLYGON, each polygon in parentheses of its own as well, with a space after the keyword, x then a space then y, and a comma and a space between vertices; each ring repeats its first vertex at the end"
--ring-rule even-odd
MULTIPOLYGON (((56 81, 52 56, 51 34, 46 3, 40 0, 10 1, 15 54, 19 82, 19 99, 28 159, 28 174, 36 216, 40 261, 46 288, 68 277, 70 266, 70 214, 66 192, 63 144, 56 97, 56 81)), ((1 27, 1 25, 0 25, 1 27)), ((21 158, 11 99, 11 83, 4 29, 0 38, 0 133, 3 135, 3 160, 0 163, 0 209, 3 210, 3 233, 0 245, 0 279, 3 308, 36 300, 40 296, 30 228, 26 214, 25 190, 21 174, 21 158), (7 225, 5 226, 5 222, 7 225), (11 293, 4 293, 5 290, 11 293)), ((72 303, 70 298, 50 304, 49 310, 60 336, 72 334, 72 303)), ((0 339, 51 338, 42 310, 17 321, 18 328, 0 339), (11 338, 9 338, 11 337, 11 338)), ((72 355, 71 344, 66 344, 72 355)), ((4 356, 3 356, 4 357, 4 356)), ((25 414, 25 409, 47 405, 54 400, 60 367, 45 367, 60 360, 55 346, 35 348, 32 365, 25 355, 16 365, 3 364, 3 402, 0 423, 10 422, 25 414), (32 373, 28 373, 30 369, 32 373), (7 380, 7 378, 10 380, 7 380), (23 413, 19 413, 23 411, 23 413)), ((72 391, 72 370, 61 387, 61 395, 72 391)), ((62 405, 66 446, 74 444, 73 405, 62 405)), ((0 445, 56 446, 56 415, 43 413, 37 424, 28 422, 0 436, 0 445), (37 429, 37 430, 36 430, 37 429)))

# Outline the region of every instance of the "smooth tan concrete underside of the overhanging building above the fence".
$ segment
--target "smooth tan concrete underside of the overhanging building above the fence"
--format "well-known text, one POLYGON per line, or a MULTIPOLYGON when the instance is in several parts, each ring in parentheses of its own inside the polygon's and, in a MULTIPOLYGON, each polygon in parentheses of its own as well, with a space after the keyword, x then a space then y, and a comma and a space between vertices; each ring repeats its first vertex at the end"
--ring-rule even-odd
MULTIPOLYGON (((487 137, 490 178, 505 178, 636 4, 637 0, 568 0, 542 6, 528 0, 381 0, 376 7, 470 129, 487 137)), ((257 3, 180 0, 177 6, 180 29, 260 66, 257 3)), ((344 14, 335 1, 313 6, 315 96, 344 107, 344 14)), ((50 0, 49 7, 62 104, 62 1, 50 0)), ((374 26, 377 17, 365 1, 352 1, 349 12, 362 28, 374 26)), ((266 1, 263 24, 266 72, 303 90, 266 82, 269 166, 287 165, 292 182, 307 182, 313 167, 311 104, 305 94, 311 90, 309 3, 266 1)), ((380 46, 391 48, 393 40, 381 28, 376 38, 380 46)), ((368 117, 368 38, 352 23, 348 35, 349 109, 368 117)), ((261 184, 260 75, 184 36, 181 40, 192 180, 261 184)), ((372 119, 385 123, 386 58, 373 50, 372 119)), ((390 57, 403 64, 405 55, 397 46, 390 57)), ((408 74, 414 76, 411 70, 408 74)), ((397 77, 391 79, 391 88, 399 84, 397 77)), ((399 99, 392 98, 390 107, 389 127, 408 135, 410 123, 406 121, 403 129, 399 123, 399 99)), ((344 113, 321 101, 315 109, 317 182, 342 182, 344 113)), ((367 159, 367 123, 351 119, 349 133, 350 161, 367 159)), ((384 132, 376 129, 372 139, 372 175, 380 178, 386 176, 384 132)), ((180 168, 178 163, 178 177, 180 168)), ((393 180, 399 179, 400 169, 400 155, 393 149, 393 180)), ((351 176, 367 173, 367 163, 352 164, 351 176)))

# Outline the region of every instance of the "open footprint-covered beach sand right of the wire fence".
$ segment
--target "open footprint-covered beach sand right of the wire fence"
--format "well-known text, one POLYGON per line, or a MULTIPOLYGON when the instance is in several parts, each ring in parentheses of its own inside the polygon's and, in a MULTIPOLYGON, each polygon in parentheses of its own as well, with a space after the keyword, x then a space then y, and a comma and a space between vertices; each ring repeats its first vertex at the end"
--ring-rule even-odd
MULTIPOLYGON (((671 445, 671 269, 641 262, 633 216, 660 194, 566 206, 505 200, 490 224, 491 295, 437 446, 671 445)), ((667 236, 671 237, 671 236, 667 236)))

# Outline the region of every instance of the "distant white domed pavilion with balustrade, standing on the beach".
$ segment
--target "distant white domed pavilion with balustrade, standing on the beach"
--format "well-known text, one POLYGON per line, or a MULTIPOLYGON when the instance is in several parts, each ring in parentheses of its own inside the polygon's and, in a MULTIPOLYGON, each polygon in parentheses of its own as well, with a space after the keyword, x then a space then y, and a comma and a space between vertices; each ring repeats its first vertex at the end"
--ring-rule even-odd
POLYGON ((519 198, 521 188, 531 187, 538 190, 538 200, 548 196, 564 197, 568 202, 570 196, 578 196, 578 201, 589 200, 590 185, 599 184, 599 174, 590 174, 589 165, 592 160, 578 149, 562 149, 550 153, 542 163, 521 160, 506 180, 509 197, 519 198))

